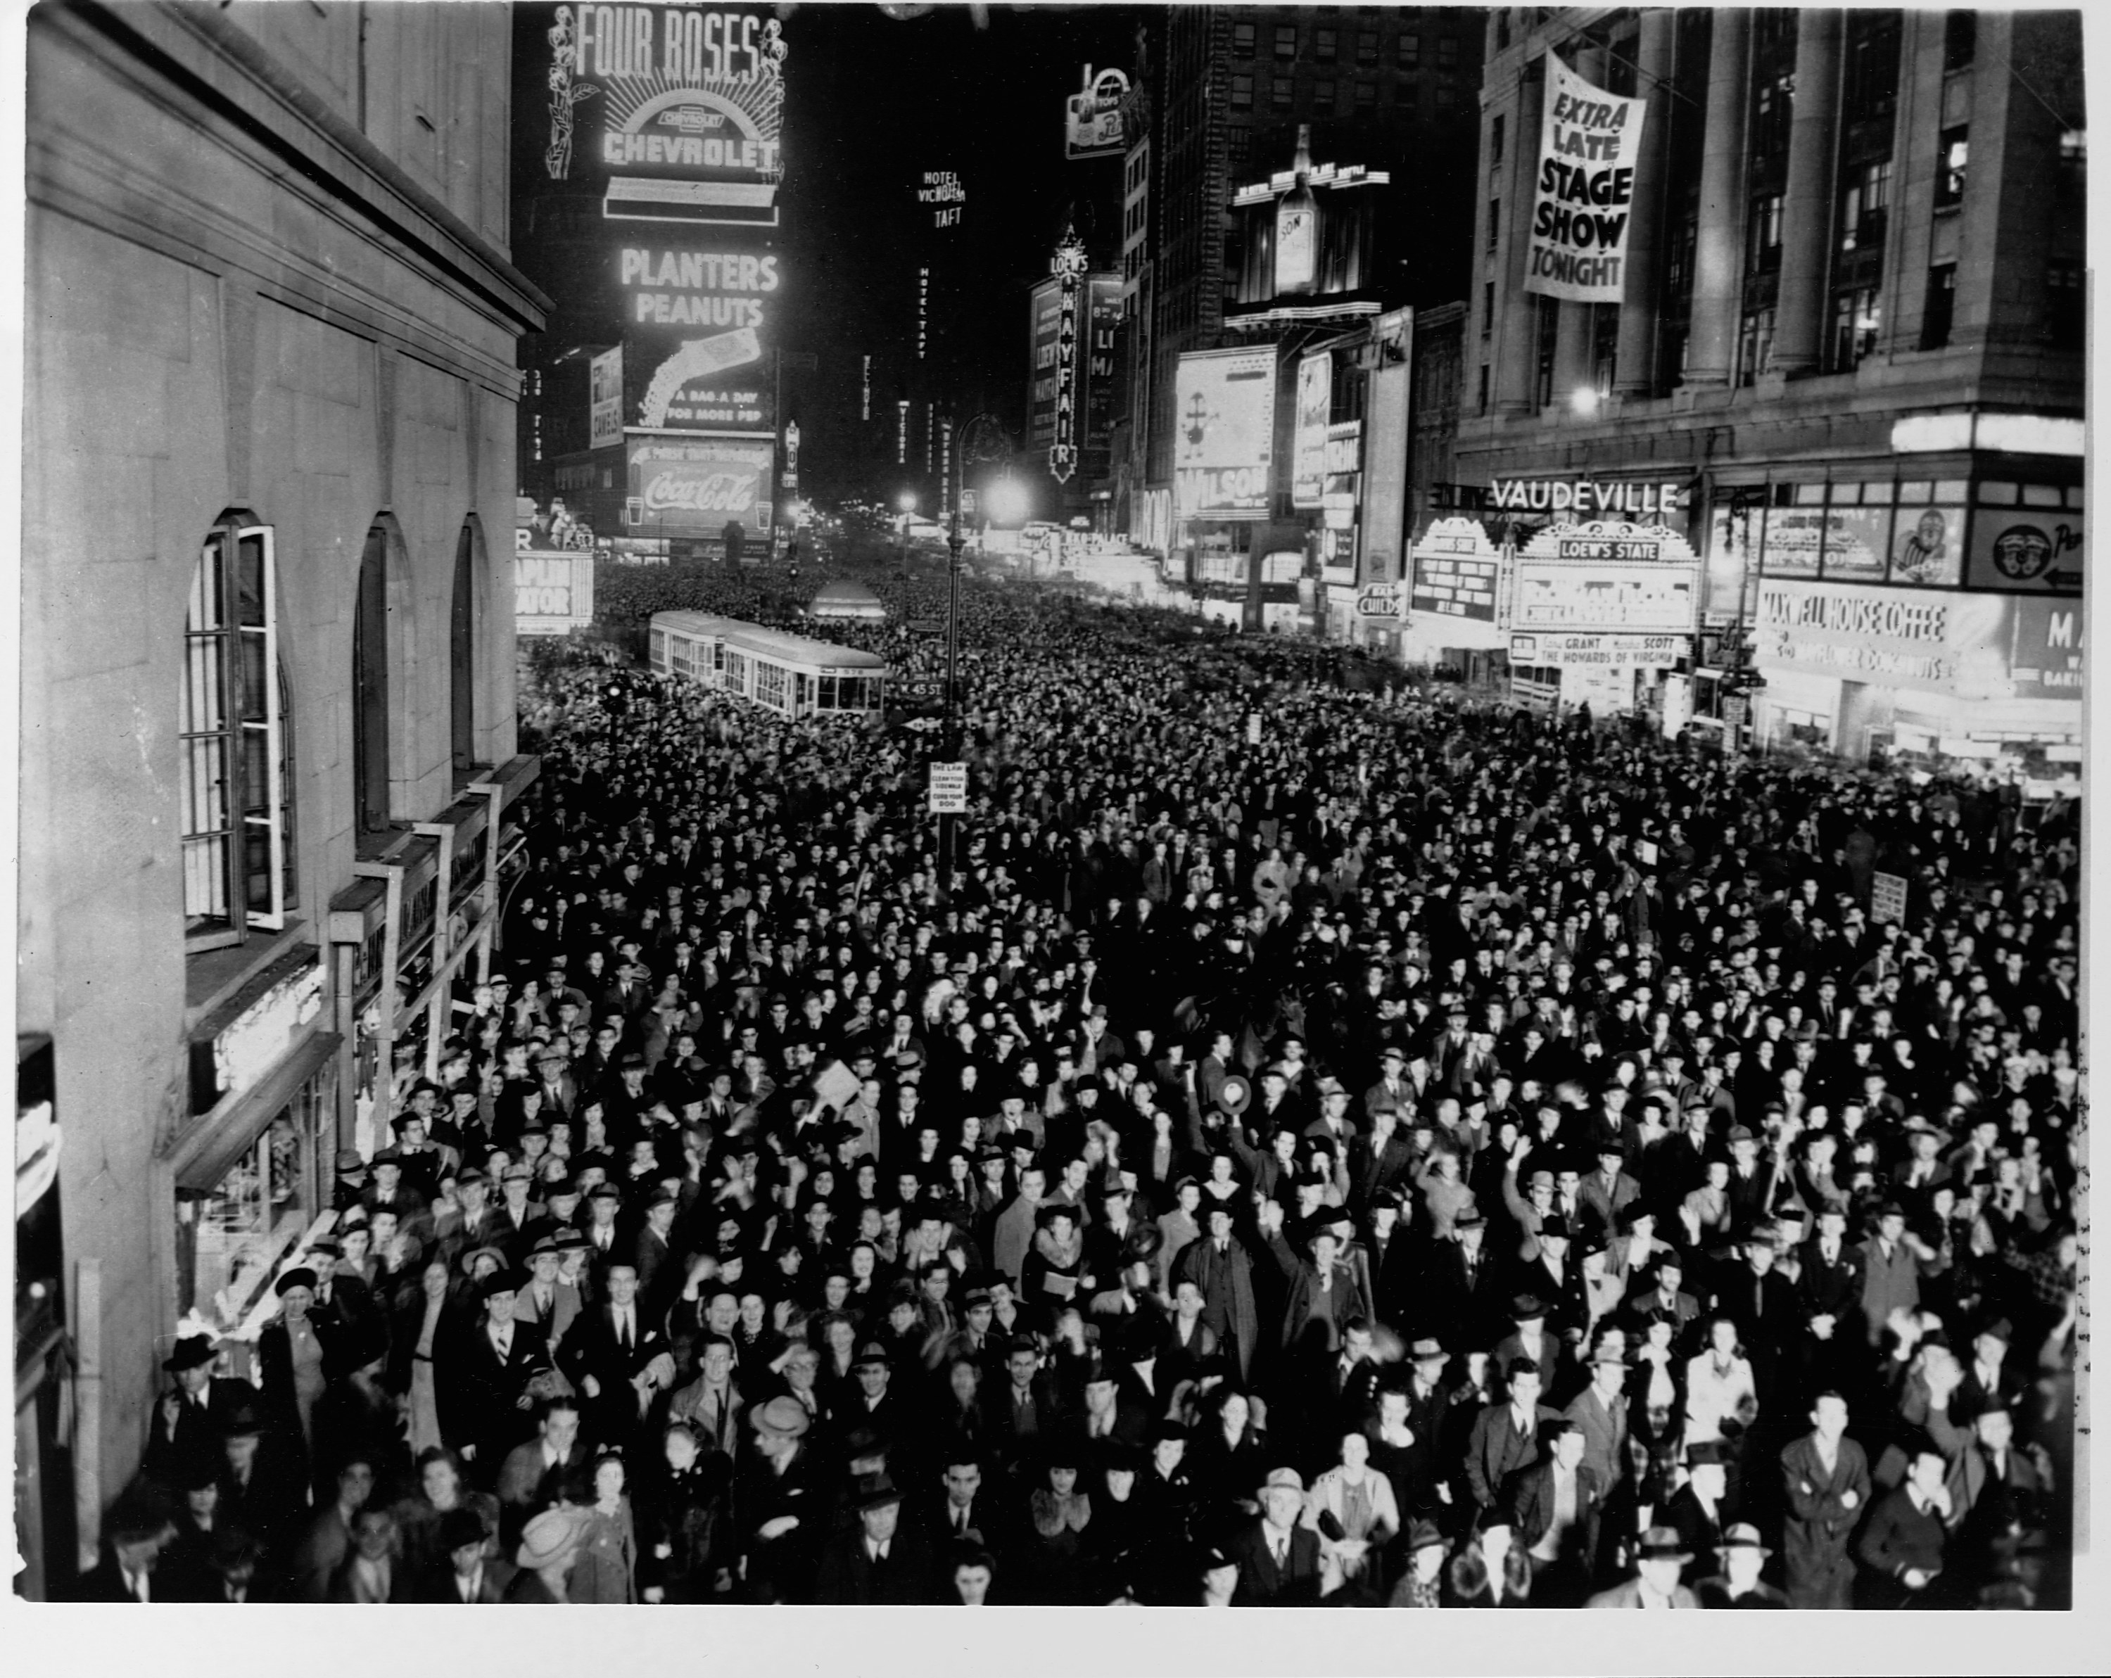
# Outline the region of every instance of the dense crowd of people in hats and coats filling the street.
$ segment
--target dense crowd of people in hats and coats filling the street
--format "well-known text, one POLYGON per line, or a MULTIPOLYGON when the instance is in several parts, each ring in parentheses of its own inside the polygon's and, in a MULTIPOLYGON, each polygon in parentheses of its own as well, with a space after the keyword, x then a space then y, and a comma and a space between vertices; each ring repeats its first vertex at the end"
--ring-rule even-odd
POLYGON ((963 686, 950 878, 920 739, 524 692, 498 960, 84 1594, 2067 1606, 2077 808, 984 585, 963 686))

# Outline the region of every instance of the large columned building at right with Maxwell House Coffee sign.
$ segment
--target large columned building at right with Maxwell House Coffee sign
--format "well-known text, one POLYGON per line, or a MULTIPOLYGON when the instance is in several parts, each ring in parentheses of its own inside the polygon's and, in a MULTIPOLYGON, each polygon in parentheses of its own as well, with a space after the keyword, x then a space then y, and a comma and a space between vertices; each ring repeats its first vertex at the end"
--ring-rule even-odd
MULTIPOLYGON (((1497 11, 1457 483, 1427 515, 1670 530, 1704 724, 2073 760, 2084 122, 2079 13, 1497 11), (1628 179, 1602 95, 1640 101, 1628 179)), ((1642 669, 1628 701, 1668 665, 1642 669)))

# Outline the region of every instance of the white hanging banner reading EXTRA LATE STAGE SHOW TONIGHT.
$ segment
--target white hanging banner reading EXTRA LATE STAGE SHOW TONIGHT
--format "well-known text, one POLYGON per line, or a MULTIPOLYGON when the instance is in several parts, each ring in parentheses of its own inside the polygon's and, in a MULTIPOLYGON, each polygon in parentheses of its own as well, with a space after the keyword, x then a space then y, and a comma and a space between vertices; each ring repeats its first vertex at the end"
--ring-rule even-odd
POLYGON ((1647 99, 1592 87, 1547 49, 1526 291, 1579 304, 1621 300, 1647 108, 1647 99))

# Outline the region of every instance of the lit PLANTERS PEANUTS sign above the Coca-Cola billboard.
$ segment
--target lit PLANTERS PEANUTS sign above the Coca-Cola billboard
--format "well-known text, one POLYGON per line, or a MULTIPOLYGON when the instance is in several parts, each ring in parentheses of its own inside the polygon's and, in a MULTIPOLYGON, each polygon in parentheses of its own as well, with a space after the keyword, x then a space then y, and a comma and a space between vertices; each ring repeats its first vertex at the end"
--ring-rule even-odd
POLYGON ((771 251, 619 247, 631 424, 646 431, 775 431, 777 285, 771 251))

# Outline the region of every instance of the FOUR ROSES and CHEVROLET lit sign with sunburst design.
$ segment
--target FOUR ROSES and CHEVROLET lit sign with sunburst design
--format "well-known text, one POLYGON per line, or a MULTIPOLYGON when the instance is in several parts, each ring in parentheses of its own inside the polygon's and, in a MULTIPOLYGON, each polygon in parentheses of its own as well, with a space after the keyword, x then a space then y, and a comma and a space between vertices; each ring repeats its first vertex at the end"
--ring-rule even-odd
POLYGON ((783 23, 762 6, 551 6, 555 182, 602 184, 612 222, 777 226, 783 23))

